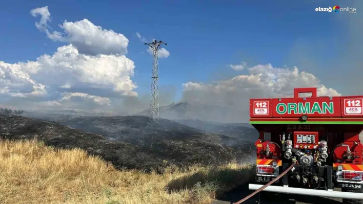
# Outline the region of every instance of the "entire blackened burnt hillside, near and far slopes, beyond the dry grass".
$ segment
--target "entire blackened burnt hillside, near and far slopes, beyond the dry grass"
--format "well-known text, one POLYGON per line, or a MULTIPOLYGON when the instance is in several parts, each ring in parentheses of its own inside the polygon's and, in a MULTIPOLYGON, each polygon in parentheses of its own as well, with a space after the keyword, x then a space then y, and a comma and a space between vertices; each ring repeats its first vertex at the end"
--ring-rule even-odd
POLYGON ((169 120, 161 119, 154 124, 143 116, 69 117, 59 122, 62 124, 3 117, 0 133, 9 139, 32 139, 37 135, 47 145, 79 147, 103 156, 115 166, 129 168, 156 168, 164 160, 178 166, 247 162, 254 148, 250 142, 201 132, 169 120))

